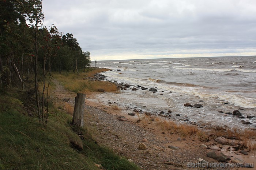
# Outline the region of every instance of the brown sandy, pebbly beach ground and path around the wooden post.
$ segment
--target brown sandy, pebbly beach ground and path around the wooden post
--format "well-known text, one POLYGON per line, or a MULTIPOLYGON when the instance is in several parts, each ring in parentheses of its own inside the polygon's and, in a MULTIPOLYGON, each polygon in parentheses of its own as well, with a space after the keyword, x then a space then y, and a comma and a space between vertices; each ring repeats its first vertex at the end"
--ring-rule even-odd
MULTIPOLYGON (((56 84, 54 103, 65 108, 66 111, 67 106, 74 108, 76 94, 65 90, 57 80, 53 80, 53 83, 56 84)), ((191 169, 188 167, 188 162, 196 163, 199 158, 218 163, 206 156, 211 150, 200 147, 202 144, 223 147, 214 140, 200 141, 197 135, 184 136, 161 130, 155 122, 143 121, 143 115, 130 116, 128 113, 131 111, 113 107, 112 104, 104 105, 95 98, 95 94, 86 96, 85 110, 84 124, 93 132, 98 144, 111 148, 117 154, 136 163, 141 169, 191 169), (127 121, 118 120, 119 116, 124 116, 127 121), (146 142, 142 142, 143 139, 147 139, 146 142), (145 150, 138 149, 140 143, 146 145, 145 150), (172 150, 168 147, 170 145, 179 149, 172 150)), ((239 152, 236 154, 241 155, 239 152)), ((246 158, 248 158, 244 159, 246 162, 256 162, 253 153, 246 158)))

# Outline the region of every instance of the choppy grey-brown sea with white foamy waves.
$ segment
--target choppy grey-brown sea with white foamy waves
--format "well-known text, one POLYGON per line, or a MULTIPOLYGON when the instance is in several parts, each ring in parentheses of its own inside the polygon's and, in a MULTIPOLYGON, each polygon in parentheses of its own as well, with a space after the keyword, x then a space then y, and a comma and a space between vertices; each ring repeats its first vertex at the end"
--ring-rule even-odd
POLYGON ((163 111, 166 119, 180 122, 256 128, 256 56, 109 60, 98 61, 97 67, 110 69, 102 73, 105 80, 131 85, 120 93, 101 94, 106 103, 153 115, 163 111), (203 107, 185 107, 185 103, 203 107), (244 118, 230 114, 234 110, 244 118))

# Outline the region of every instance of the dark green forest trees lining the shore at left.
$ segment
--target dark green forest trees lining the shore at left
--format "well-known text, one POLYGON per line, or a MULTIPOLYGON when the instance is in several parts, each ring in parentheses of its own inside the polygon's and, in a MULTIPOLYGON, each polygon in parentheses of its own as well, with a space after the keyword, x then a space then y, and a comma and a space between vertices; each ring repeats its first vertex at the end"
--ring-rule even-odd
POLYGON ((72 33, 63 35, 55 25, 47 28, 43 23, 42 0, 0 0, 0 90, 14 84, 24 88, 25 75, 33 75, 39 120, 44 120, 44 90, 51 71, 79 74, 91 63, 90 52, 82 51, 72 33))

